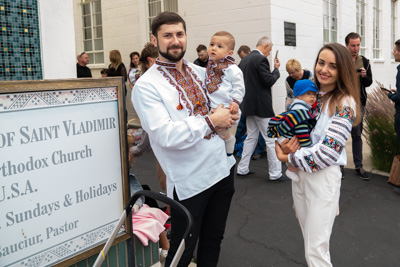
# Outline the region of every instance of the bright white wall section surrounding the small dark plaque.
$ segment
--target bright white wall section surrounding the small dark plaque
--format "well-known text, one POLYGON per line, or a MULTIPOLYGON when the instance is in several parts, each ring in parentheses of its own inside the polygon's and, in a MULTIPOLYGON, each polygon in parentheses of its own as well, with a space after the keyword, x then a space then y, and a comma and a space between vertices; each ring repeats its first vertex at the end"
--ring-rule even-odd
POLYGON ((274 110, 280 113, 285 109, 287 75, 286 62, 295 58, 302 68, 313 72, 314 62, 319 49, 323 45, 322 31, 322 1, 274 0, 272 9, 272 34, 274 44, 269 57, 273 67, 275 51, 279 50, 279 68, 281 77, 275 83, 272 91, 274 110), (296 24, 296 46, 285 46, 284 22, 296 24))

